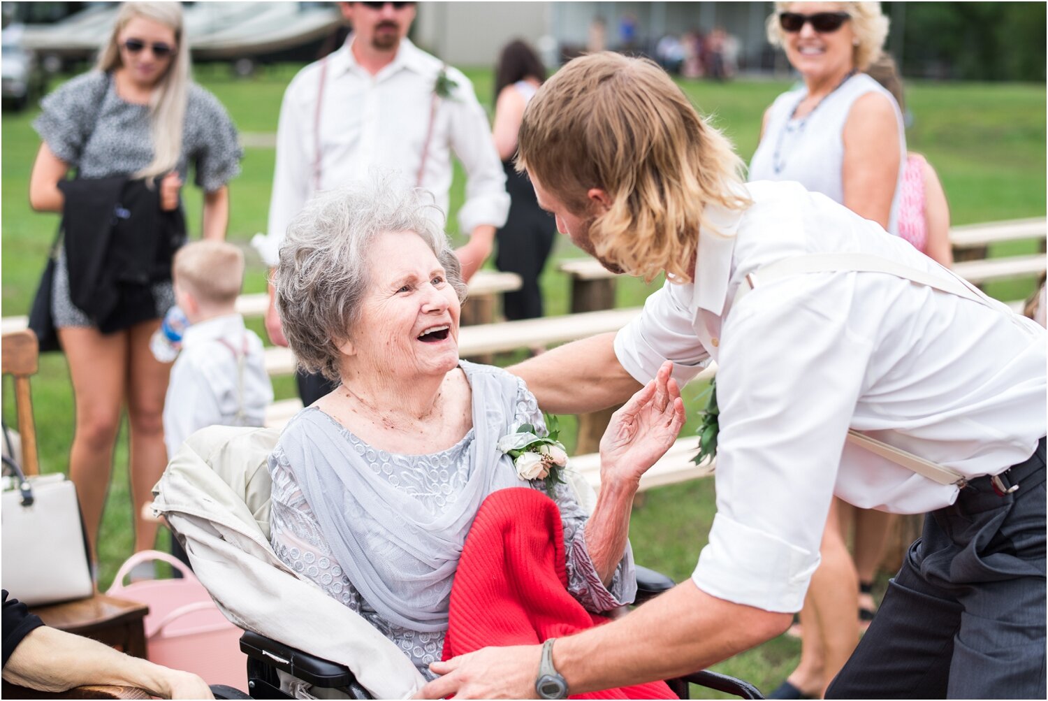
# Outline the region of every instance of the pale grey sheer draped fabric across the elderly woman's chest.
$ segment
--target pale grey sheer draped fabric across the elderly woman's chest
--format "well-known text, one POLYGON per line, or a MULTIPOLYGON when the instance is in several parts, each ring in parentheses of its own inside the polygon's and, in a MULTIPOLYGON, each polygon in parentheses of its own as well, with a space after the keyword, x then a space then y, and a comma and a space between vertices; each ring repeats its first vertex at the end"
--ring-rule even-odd
POLYGON ((527 485, 496 447, 514 425, 518 379, 498 368, 461 367, 473 390, 474 439, 468 474, 443 513, 375 474, 320 411, 300 414, 296 420, 310 425, 280 439, 349 580, 378 615, 409 630, 447 630, 452 579, 481 502, 498 489, 527 485))

